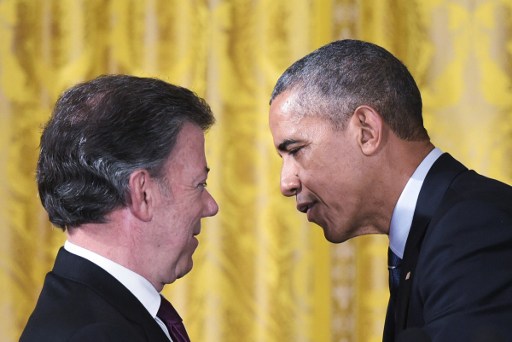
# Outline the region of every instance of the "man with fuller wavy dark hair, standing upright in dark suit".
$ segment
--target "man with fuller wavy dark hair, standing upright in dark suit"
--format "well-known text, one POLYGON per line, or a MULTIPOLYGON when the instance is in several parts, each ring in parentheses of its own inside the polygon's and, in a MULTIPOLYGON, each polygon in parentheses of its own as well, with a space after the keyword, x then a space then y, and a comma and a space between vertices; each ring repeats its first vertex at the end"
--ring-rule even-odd
POLYGON ((57 101, 37 183, 67 241, 21 341, 188 341, 159 292, 187 274, 206 190, 204 132, 215 119, 188 89, 106 75, 57 101))

